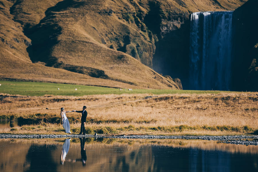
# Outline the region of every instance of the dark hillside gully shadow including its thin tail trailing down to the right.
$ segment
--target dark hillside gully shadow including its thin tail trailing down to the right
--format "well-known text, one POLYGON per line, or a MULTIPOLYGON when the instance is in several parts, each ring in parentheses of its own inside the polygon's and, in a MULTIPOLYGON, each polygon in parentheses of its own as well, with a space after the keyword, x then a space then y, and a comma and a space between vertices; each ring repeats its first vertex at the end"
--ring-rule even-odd
POLYGON ((95 78, 108 79, 105 72, 90 67, 80 67, 64 64, 52 55, 53 47, 58 44, 58 36, 62 34, 62 27, 56 20, 56 13, 68 8, 79 8, 85 2, 64 0, 58 2, 54 7, 50 7, 45 12, 45 17, 36 26, 28 24, 24 27, 24 34, 31 39, 32 45, 27 48, 32 62, 44 62, 48 67, 65 69, 67 71, 89 75, 95 78))

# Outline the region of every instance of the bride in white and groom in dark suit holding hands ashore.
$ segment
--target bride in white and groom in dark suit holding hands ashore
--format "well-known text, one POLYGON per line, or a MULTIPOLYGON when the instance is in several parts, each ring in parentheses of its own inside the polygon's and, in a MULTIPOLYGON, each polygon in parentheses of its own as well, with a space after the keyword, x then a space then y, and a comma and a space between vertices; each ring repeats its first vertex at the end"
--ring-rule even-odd
POLYGON ((77 112, 77 113, 81 113, 81 131, 79 133, 79 135, 85 135, 85 122, 86 122, 86 118, 87 118, 87 111, 86 111, 86 106, 83 106, 83 110, 81 111, 77 111, 77 110, 72 110, 72 111, 64 111, 64 108, 61 107, 61 118, 62 118, 62 124, 63 124, 63 127, 64 127, 64 130, 66 133, 70 133, 70 124, 69 124, 69 120, 67 119, 67 116, 66 116, 66 113, 68 112, 77 112))

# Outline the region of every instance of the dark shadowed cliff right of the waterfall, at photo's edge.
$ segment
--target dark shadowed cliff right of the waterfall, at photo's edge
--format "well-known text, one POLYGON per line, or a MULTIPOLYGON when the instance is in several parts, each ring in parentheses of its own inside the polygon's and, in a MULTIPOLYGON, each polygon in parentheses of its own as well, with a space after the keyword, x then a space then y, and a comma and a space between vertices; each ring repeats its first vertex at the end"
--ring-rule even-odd
POLYGON ((233 12, 232 87, 258 91, 258 1, 249 0, 233 12))

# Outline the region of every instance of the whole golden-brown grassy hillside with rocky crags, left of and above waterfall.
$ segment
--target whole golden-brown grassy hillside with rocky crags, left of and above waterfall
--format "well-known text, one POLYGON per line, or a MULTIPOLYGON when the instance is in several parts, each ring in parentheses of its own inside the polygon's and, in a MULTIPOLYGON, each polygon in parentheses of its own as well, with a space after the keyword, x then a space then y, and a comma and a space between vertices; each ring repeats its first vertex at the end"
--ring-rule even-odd
POLYGON ((0 0, 0 77, 152 89, 181 83, 152 69, 155 42, 189 13, 245 1, 0 0))

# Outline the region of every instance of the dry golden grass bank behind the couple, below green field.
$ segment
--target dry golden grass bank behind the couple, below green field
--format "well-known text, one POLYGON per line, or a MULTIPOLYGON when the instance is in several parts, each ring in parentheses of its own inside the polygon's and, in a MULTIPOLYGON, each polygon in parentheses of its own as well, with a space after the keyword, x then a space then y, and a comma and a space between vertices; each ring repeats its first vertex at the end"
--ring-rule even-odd
MULTIPOLYGON (((87 106, 87 133, 228 135, 258 130, 257 93, 166 95, 89 95, 83 97, 1 97, 0 117, 14 115, 43 120, 35 126, 1 130, 1 133, 60 134, 60 107, 81 110, 87 106), (48 109, 46 109, 48 108, 48 109)), ((80 114, 67 113, 71 132, 80 129, 80 114)))

